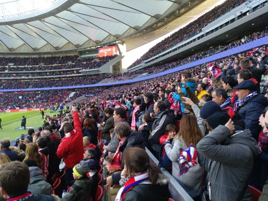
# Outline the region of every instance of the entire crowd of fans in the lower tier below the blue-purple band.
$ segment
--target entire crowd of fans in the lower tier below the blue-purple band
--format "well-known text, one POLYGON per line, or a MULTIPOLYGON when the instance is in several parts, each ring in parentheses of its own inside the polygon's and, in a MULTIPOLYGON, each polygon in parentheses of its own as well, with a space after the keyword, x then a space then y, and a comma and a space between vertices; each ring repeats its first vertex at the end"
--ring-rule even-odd
POLYGON ((252 200, 252 188, 267 200, 267 52, 265 46, 102 88, 57 116, 46 115, 39 132, 29 129, 16 141, 19 149, 0 142, 3 199, 99 201, 104 185, 108 200, 167 201, 163 167, 194 200, 252 200))

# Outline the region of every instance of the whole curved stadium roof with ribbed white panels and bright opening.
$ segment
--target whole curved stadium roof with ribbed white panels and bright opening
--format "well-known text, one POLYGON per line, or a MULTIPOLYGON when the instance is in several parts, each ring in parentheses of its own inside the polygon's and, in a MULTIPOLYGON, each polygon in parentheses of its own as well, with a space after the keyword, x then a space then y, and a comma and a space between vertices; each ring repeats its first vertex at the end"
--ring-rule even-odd
POLYGON ((188 12, 204 1, 0 0, 0 52, 73 51, 115 41, 130 50, 181 26, 186 19, 174 23, 180 16, 188 13, 189 21, 217 2, 188 12))

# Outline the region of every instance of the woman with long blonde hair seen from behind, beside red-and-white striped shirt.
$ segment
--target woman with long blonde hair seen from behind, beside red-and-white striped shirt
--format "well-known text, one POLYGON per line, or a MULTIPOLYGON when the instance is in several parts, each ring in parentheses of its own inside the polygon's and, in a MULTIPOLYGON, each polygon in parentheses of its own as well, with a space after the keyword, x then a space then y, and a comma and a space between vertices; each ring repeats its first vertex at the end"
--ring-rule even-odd
POLYGON ((23 163, 26 163, 28 167, 35 166, 38 168, 42 168, 42 156, 38 152, 38 146, 37 144, 31 142, 27 144, 26 151, 25 151, 26 157, 22 161, 23 163))

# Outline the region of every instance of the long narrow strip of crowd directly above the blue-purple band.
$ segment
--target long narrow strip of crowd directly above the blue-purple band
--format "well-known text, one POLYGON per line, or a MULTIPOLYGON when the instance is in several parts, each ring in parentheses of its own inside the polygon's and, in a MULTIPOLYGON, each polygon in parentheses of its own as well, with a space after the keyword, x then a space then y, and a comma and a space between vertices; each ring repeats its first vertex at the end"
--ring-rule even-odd
MULTIPOLYGON (((247 42, 251 42, 253 40, 262 38, 267 35, 268 35, 268 28, 266 27, 263 31, 254 32, 250 35, 244 36, 241 39, 228 42, 227 44, 224 44, 224 45, 219 45, 209 50, 195 53, 194 55, 186 57, 184 59, 178 59, 178 61, 173 61, 173 62, 165 63, 163 65, 158 65, 158 66, 153 66, 153 67, 148 67, 148 68, 142 68, 142 69, 138 69, 138 70, 131 71, 131 72, 128 71, 123 74, 119 73, 119 74, 113 74, 113 75, 102 75, 102 76, 93 76, 93 77, 76 77, 76 78, 68 78, 68 79, 62 78, 59 80, 51 79, 49 81, 47 80, 46 82, 44 82, 43 80, 2 81, 0 84, 0 88, 1 89, 15 89, 15 88, 20 89, 20 88, 42 88, 42 87, 87 85, 87 84, 96 84, 107 78, 118 78, 118 80, 120 80, 124 77, 124 79, 126 80, 132 75, 140 75, 144 73, 148 73, 148 74, 157 73, 157 72, 165 71, 167 69, 171 69, 180 65, 184 65, 186 63, 190 63, 199 59, 203 59, 205 57, 209 57, 219 52, 226 51, 228 49, 237 47, 239 45, 246 44, 247 42)), ((86 64, 89 64, 89 63, 86 63, 86 64)), ((71 64, 71 65, 76 65, 76 64, 71 64)))

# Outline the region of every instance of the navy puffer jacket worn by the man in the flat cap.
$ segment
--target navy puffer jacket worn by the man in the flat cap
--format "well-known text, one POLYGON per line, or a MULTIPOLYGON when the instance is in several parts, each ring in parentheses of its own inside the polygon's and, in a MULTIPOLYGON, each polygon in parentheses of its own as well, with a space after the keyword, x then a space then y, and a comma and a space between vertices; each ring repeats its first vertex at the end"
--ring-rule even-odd
POLYGON ((258 142, 261 126, 259 125, 259 117, 265 107, 268 106, 268 100, 262 94, 253 96, 242 107, 238 108, 238 113, 244 119, 245 129, 251 131, 252 137, 258 142))

